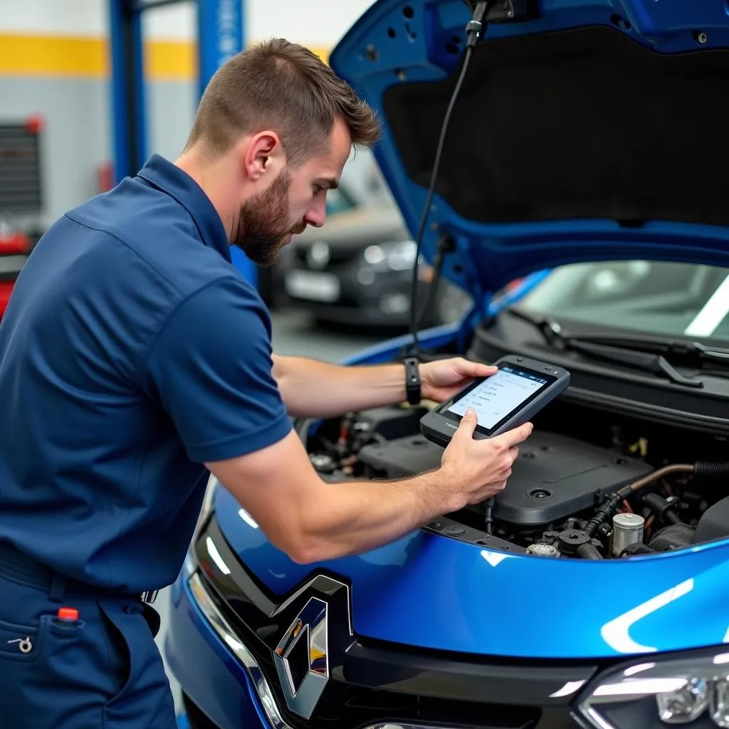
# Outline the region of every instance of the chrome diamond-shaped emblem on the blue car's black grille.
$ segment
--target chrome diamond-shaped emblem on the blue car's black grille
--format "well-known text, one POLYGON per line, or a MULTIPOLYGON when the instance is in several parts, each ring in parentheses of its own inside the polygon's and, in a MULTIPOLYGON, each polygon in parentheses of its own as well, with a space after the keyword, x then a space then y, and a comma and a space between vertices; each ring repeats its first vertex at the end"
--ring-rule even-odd
POLYGON ((273 654, 286 704, 309 719, 329 681, 327 603, 309 599, 273 654))

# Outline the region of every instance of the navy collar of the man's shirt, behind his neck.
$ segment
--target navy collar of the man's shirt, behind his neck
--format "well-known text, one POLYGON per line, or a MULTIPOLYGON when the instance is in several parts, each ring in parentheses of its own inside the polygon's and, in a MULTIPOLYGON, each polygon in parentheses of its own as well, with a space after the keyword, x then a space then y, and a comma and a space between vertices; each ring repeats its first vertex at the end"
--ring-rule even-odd
POLYGON ((217 250, 230 262, 230 241, 218 211, 200 185, 187 172, 160 155, 152 155, 138 176, 177 200, 192 216, 203 243, 217 250))

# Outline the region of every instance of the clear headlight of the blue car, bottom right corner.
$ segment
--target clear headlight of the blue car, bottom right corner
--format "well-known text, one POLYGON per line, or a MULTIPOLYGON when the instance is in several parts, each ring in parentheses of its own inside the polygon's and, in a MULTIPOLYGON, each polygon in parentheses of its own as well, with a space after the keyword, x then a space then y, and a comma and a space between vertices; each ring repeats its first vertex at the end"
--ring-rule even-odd
POLYGON ((580 712, 596 729, 729 728, 729 652, 609 674, 582 699, 580 712))

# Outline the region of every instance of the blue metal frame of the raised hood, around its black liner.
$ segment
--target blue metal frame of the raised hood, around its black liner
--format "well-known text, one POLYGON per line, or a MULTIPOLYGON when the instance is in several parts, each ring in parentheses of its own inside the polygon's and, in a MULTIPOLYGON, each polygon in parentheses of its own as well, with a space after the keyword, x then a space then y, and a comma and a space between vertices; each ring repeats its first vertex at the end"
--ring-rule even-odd
MULTIPOLYGON (((702 48, 729 47, 727 5, 684 0, 541 0, 537 20, 493 24, 483 43, 581 26, 615 29, 611 17, 616 13, 629 19, 631 28, 625 33, 634 42, 660 53, 695 52, 697 28, 708 39, 702 48)), ((448 53, 440 39, 462 38, 469 17, 464 0, 379 0, 344 36, 330 58, 332 68, 380 112, 383 139, 375 147, 375 157, 413 233, 418 229, 426 189, 405 172, 383 114, 383 94, 399 83, 398 74, 412 84, 444 79, 457 71, 462 52, 448 53), (404 17, 406 5, 412 9, 408 12, 412 17, 404 17), (400 40, 403 36, 407 42, 400 40), (376 58, 368 48, 376 51, 376 58)), ((479 124, 474 122, 477 143, 479 124)), ((534 123, 539 124, 538 120, 534 123)), ((631 120, 625 123, 631 124, 631 120)), ((545 139, 545 144, 549 140, 545 139)), ((576 180, 576 188, 579 184, 576 180)), ((459 216, 437 194, 429 223, 440 228, 426 228, 426 260, 433 260, 440 233, 451 233, 458 254, 445 261, 443 275, 477 297, 496 292, 515 278, 569 262, 647 257, 729 264, 729 229, 725 227, 655 220, 640 228, 626 228, 608 219, 485 224, 459 216)))

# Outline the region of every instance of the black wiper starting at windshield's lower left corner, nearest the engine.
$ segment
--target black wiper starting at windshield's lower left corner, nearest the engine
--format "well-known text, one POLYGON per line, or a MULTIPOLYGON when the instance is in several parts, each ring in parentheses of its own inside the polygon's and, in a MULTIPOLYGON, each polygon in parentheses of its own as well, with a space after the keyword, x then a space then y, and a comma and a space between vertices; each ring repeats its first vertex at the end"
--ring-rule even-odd
MULTIPOLYGON (((549 317, 531 316, 531 314, 515 308, 508 308, 506 311, 534 326, 547 340, 547 343, 555 348, 644 370, 664 377, 677 385, 703 387, 701 380, 688 378, 679 373, 663 354, 640 351, 639 348, 617 346, 617 337, 610 340, 606 336, 604 341, 610 341, 611 343, 601 343, 597 341, 598 337, 593 340, 587 337, 572 336, 567 334, 557 321, 549 317)), ((625 341, 625 338, 623 338, 623 341, 625 341)))

